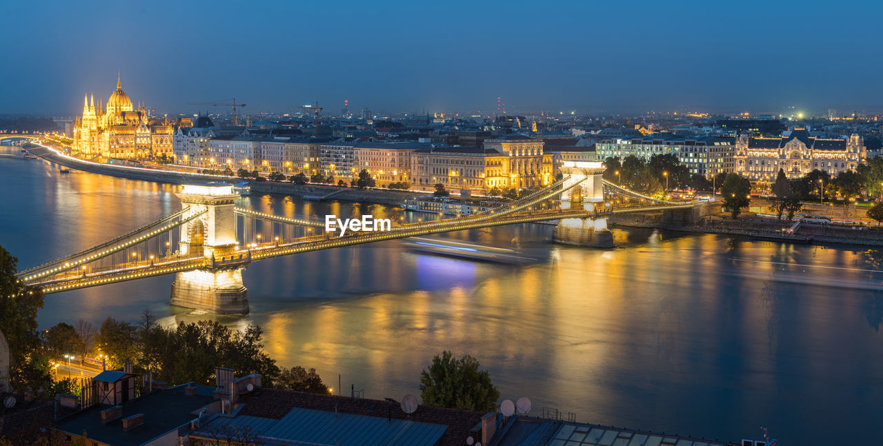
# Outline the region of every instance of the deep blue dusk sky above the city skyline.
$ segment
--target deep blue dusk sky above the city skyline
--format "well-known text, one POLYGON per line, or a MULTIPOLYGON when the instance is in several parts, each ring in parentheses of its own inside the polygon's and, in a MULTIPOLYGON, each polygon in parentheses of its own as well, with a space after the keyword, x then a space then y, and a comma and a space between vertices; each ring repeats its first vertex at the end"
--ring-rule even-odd
POLYGON ((883 110, 878 2, 176 3, 4 2, 0 113, 883 110))

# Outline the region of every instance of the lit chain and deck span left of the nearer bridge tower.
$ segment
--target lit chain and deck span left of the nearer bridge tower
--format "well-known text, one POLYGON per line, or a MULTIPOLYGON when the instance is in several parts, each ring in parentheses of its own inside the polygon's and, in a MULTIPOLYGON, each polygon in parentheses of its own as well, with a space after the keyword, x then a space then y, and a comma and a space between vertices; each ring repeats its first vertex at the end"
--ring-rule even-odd
POLYGON ((188 250, 182 249, 181 228, 205 214, 203 211, 185 216, 186 210, 58 261, 28 269, 19 274, 19 280, 29 285, 46 286, 75 277, 115 274, 202 257, 201 252, 182 253, 188 250))

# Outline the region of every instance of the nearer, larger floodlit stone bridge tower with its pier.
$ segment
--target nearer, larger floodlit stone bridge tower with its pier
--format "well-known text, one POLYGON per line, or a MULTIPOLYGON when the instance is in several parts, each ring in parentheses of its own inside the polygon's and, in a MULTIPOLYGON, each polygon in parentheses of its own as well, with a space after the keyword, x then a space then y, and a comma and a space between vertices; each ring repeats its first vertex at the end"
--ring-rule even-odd
MULTIPOLYGON (((184 217, 201 214, 181 228, 181 255, 202 255, 214 260, 236 252, 233 186, 223 183, 185 185, 177 194, 188 208, 184 217)), ((214 265, 215 262, 211 261, 214 265)), ((248 291, 242 283, 242 264, 177 273, 171 285, 171 305, 207 310, 216 314, 248 313, 248 291)))

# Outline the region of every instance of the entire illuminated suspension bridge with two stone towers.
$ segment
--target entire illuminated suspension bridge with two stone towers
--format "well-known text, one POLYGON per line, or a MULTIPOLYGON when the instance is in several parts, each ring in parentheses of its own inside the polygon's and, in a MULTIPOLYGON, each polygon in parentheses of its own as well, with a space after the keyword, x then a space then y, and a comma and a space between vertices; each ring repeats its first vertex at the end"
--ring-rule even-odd
MULTIPOLYGON (((56 261, 19 272, 26 286, 45 293, 175 274, 171 303, 215 313, 248 312, 242 270, 250 263, 396 238, 506 224, 559 221, 555 240, 612 246, 607 217, 618 213, 692 208, 691 202, 655 200, 601 179, 600 163, 570 162, 551 185, 498 208, 434 221, 392 223, 389 231, 325 231, 323 221, 238 208, 233 186, 184 185, 182 208, 56 261), (622 200, 613 200, 620 197, 622 200), (630 205, 619 203, 630 202, 630 205)), ((420 219, 422 220, 422 219, 420 219)))

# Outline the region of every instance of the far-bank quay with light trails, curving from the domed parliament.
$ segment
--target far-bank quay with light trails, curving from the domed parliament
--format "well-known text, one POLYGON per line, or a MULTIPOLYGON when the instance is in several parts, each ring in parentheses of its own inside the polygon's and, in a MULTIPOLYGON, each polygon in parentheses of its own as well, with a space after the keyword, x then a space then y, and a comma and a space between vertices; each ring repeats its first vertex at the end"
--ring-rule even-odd
MULTIPOLYGON (((244 178, 209 175, 180 170, 132 167, 116 164, 93 163, 69 155, 64 155, 53 147, 31 144, 29 150, 46 161, 57 163, 69 169, 83 170, 111 177, 157 181, 173 185, 183 185, 203 181, 246 181, 244 178)), ((290 182, 248 180, 251 193, 273 193, 291 195, 305 200, 341 200, 368 204, 381 204, 401 207, 404 200, 421 193, 397 190, 355 189, 337 185, 295 185, 290 182)), ((425 193, 423 193, 425 194, 425 193)))

